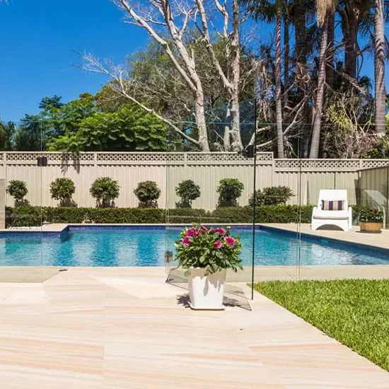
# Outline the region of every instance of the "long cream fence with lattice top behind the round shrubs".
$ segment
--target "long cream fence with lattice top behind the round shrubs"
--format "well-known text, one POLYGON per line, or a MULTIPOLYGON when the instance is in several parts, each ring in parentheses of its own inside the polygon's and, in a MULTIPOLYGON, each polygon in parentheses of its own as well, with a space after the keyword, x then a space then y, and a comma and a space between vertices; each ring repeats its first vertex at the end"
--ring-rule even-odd
MULTIPOLYGON (((385 159, 275 159, 273 153, 257 154, 257 188, 284 185, 294 197, 289 204, 316 204, 320 189, 347 189, 350 204, 388 202, 389 160, 385 159)), ((27 182, 26 199, 33 205, 56 206, 50 182, 68 177, 76 185, 74 201, 79 207, 94 207, 89 189, 95 178, 110 177, 120 184, 117 207, 137 207, 134 189, 138 182, 152 180, 161 188, 158 205, 174 208, 175 187, 182 180, 194 180, 201 196, 193 208, 214 209, 216 188, 222 178, 238 178, 245 189, 240 205, 248 204, 253 188, 253 160, 240 153, 0 153, 0 179, 27 182), (37 166, 45 156, 47 166, 37 166)), ((6 196, 6 205, 13 198, 6 196)), ((386 204, 388 205, 388 204, 386 204)))

